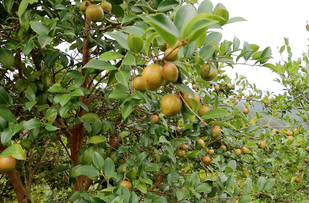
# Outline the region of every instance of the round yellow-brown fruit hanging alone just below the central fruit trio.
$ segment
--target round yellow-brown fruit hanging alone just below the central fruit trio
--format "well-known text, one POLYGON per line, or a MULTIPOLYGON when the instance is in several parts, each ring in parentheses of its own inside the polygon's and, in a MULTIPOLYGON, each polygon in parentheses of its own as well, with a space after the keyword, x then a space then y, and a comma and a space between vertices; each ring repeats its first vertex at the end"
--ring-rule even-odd
POLYGON ((166 95, 161 101, 161 111, 165 116, 175 116, 181 109, 182 102, 179 96, 166 95))

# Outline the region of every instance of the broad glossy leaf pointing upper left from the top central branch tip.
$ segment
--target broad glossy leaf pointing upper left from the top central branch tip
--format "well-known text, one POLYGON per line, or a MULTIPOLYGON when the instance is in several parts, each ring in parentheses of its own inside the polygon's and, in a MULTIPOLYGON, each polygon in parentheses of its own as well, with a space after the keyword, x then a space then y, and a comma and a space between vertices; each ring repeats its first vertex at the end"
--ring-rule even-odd
POLYGON ((180 33, 176 25, 165 14, 157 13, 151 15, 138 15, 147 23, 155 27, 159 35, 171 47, 175 45, 176 40, 180 37, 180 33))

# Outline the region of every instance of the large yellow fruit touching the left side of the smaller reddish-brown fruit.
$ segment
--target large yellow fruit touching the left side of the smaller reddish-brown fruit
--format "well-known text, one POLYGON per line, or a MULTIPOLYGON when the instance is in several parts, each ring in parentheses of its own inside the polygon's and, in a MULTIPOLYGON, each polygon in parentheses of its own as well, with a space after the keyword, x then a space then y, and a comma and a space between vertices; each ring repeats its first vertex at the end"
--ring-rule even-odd
POLYGON ((148 90, 156 90, 163 85, 162 69, 163 67, 158 64, 152 64, 144 69, 142 78, 148 90))

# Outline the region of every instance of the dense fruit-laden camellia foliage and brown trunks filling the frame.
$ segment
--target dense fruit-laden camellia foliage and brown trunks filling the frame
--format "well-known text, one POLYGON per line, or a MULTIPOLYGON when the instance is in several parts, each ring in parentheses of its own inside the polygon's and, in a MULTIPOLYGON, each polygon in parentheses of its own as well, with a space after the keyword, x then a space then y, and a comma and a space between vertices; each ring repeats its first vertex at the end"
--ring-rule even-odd
POLYGON ((269 47, 222 40, 214 29, 244 19, 209 0, 1 8, 2 202, 308 199, 309 61, 292 62, 287 39, 288 61, 267 63, 269 47), (272 69, 287 93, 224 74, 239 60, 272 69), (287 128, 257 125, 263 115, 287 128))

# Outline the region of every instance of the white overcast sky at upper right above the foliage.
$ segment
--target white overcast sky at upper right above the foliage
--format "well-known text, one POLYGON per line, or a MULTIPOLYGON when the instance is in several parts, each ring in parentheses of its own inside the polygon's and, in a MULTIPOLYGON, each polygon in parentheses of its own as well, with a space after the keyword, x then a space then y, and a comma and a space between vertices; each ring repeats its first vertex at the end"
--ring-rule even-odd
MULTIPOLYGON (((284 45, 284 37, 289 38, 289 45, 293 53, 292 60, 302 57, 303 52, 308 50, 309 32, 306 30, 306 20, 309 21, 309 1, 307 0, 210 0, 214 6, 222 3, 231 17, 243 17, 245 22, 231 23, 223 26, 222 40, 233 41, 234 35, 241 41, 249 44, 257 44, 263 50, 270 46, 272 57, 269 60, 275 63, 281 60, 277 47, 284 45)), ((202 2, 201 0, 198 1, 202 2)), ((286 55, 283 57, 286 60, 286 55)), ((265 67, 251 67, 245 65, 226 67, 225 70, 230 78, 235 78, 235 72, 243 74, 250 83, 262 91, 282 93, 284 88, 273 79, 277 74, 272 73, 265 67)))

